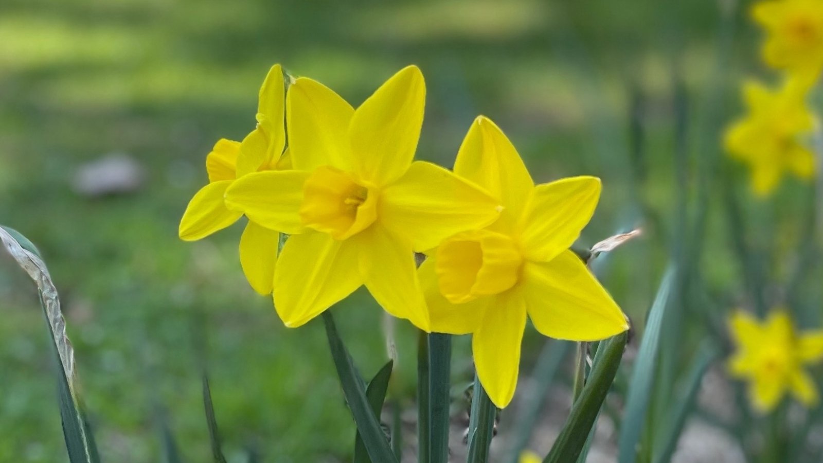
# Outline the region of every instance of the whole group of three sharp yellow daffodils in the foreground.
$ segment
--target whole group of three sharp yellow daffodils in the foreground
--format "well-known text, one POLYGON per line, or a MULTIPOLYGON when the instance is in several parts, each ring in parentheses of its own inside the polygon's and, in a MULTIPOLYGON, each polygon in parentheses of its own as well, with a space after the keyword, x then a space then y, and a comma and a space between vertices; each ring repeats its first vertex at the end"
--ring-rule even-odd
POLYGON ((594 213, 600 180, 535 185, 509 139, 482 116, 454 171, 414 161, 425 107, 415 66, 356 109, 312 79, 289 83, 274 66, 257 127, 242 143, 216 144, 210 183, 179 231, 198 240, 248 217, 240 262, 257 292, 272 293, 286 326, 304 325, 365 285, 385 311, 421 330, 473 334, 478 377, 499 407, 514 395, 527 314, 558 339, 628 329, 569 250, 594 213), (288 239, 278 255, 281 233, 288 239), (427 257, 419 269, 415 252, 427 257))

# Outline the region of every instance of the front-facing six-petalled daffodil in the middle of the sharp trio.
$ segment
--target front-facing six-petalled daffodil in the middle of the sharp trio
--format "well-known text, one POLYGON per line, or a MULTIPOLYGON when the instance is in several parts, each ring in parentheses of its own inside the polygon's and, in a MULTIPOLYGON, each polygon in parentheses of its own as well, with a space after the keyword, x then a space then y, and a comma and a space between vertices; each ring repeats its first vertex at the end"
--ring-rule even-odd
POLYGON ((226 203, 291 236, 274 306, 300 326, 365 284, 388 313, 429 330, 412 250, 485 227, 500 203, 428 162, 412 162, 425 106, 420 69, 402 69, 357 110, 319 82, 289 88, 291 171, 246 175, 226 203))

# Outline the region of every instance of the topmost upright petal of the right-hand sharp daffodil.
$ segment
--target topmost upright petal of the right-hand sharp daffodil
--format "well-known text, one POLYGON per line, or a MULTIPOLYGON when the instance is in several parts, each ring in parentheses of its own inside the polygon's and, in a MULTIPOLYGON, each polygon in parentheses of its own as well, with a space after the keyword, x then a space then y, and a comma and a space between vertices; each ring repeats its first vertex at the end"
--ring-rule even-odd
POLYGON ((519 217, 534 186, 523 159, 500 127, 480 116, 460 145, 454 173, 485 188, 503 202, 511 217, 519 217))

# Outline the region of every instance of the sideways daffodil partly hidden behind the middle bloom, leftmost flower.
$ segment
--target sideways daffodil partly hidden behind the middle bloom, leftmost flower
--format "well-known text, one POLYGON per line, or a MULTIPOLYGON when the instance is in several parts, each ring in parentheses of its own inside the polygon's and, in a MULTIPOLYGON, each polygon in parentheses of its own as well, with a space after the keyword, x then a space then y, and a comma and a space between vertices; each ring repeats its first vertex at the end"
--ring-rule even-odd
MULTIPOLYGON (((208 185, 194 194, 180 221, 179 236, 195 241, 236 222, 242 213, 226 208, 226 189, 235 180, 252 172, 289 168, 288 156, 281 156, 286 144, 284 128, 285 84, 279 64, 272 66, 258 101, 257 127, 243 143, 221 139, 206 157, 208 185)), ((260 294, 272 293, 277 260, 278 232, 253 221, 240 237, 240 265, 252 288, 260 294)))

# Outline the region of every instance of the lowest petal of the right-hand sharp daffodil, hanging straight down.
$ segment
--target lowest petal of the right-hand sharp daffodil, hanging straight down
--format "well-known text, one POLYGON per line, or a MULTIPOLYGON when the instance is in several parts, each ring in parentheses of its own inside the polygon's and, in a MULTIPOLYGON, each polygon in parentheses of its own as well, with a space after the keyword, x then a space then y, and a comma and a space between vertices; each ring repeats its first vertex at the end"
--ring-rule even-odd
POLYGON ((494 297, 480 328, 472 335, 477 377, 500 409, 509 405, 514 397, 525 328, 523 297, 517 291, 508 291, 494 297))

